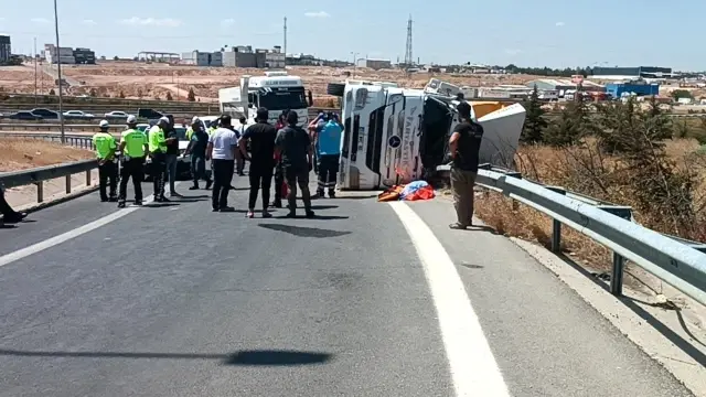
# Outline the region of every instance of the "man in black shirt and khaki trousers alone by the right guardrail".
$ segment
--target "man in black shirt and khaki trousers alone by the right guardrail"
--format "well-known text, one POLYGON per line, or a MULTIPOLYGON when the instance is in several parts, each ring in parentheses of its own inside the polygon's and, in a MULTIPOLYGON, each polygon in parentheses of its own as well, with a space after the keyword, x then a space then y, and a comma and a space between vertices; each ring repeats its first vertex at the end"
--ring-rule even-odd
POLYGON ((451 191, 457 222, 453 229, 464 229, 473 223, 473 185, 478 174, 479 152, 483 139, 483 127, 471 120, 471 105, 460 103, 457 108, 459 124, 449 139, 451 164, 451 191))

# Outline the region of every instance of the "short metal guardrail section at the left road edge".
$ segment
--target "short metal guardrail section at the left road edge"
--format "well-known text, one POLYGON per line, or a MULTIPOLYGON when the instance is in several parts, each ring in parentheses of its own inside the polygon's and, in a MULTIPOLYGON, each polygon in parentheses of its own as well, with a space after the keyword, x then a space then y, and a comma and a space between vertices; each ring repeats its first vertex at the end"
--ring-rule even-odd
POLYGON ((98 168, 97 160, 84 160, 64 164, 40 167, 30 170, 0 172, 0 185, 17 187, 28 184, 36 185, 36 202, 44 202, 44 181, 65 178, 66 194, 71 194, 73 174, 86 173, 86 186, 90 186, 90 171, 98 168))

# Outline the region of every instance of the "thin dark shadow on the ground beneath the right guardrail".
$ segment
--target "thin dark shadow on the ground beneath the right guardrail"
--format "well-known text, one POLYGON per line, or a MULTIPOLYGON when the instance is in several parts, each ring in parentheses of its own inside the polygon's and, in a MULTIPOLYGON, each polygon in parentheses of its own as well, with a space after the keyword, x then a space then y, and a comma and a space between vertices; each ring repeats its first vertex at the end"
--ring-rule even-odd
MULTIPOLYGON (((568 256, 566 256, 564 254, 556 254, 556 255, 557 255, 557 257, 559 259, 561 259, 568 266, 570 266, 571 268, 574 268, 575 270, 580 272, 587 279, 591 280, 591 282, 593 282, 596 286, 598 286, 601 289, 603 289, 607 293, 610 293, 610 286, 606 281, 597 278, 596 273, 590 272, 589 270, 587 270, 586 268, 584 268, 582 266, 580 266, 579 264, 577 264, 576 261, 574 261, 571 258, 569 258, 568 256)), ((598 275, 598 276, 600 276, 600 275, 598 275)), ((634 298, 624 297, 624 296, 623 297, 616 297, 616 298, 622 304, 624 304, 628 309, 632 310, 632 312, 638 314, 642 320, 648 322, 648 324, 650 324, 652 328, 654 328, 664 337, 670 340, 670 342, 674 343, 682 352, 686 353, 689 357, 694 358, 694 361, 696 361, 698 364, 700 364, 702 366, 706 367, 706 354, 704 354, 702 351, 699 351, 694 345, 692 345, 692 343, 689 343, 687 340, 682 337, 682 335, 680 335, 676 332, 672 331, 666 324, 664 324, 662 321, 656 319, 650 312, 648 312, 646 310, 642 309, 638 303, 643 303, 643 304, 649 304, 649 305, 655 307, 654 304, 648 303, 648 302, 643 302, 643 301, 640 301, 640 300, 634 299, 634 298)), ((680 313, 680 311, 681 311, 681 309, 676 310, 677 316, 678 316, 678 320, 680 320, 680 324, 684 329, 684 332, 686 332, 698 344, 706 346, 702 341, 696 339, 693 335, 693 333, 688 330, 688 328, 686 326, 686 323, 684 322, 684 319, 682 318, 682 314, 680 313)))

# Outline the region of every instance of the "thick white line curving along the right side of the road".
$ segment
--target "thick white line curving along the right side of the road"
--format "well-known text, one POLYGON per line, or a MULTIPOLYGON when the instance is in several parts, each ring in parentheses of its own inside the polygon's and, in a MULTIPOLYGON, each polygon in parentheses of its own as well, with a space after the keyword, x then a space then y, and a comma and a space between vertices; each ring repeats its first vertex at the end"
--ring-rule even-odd
POLYGON ((437 309, 458 397, 509 397, 510 391, 449 254, 404 202, 391 202, 421 260, 437 309))

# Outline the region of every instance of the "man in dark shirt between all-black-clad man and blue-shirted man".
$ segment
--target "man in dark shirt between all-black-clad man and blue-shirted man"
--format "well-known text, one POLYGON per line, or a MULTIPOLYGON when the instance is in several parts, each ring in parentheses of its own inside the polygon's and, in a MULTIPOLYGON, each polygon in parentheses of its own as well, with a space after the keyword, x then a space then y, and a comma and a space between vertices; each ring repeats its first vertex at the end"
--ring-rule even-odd
POLYGON ((288 126, 277 132, 276 146, 281 152, 285 180, 287 181, 287 201, 289 214, 287 217, 297 216, 297 185, 301 189, 301 201, 304 202, 307 217, 313 217, 311 211, 311 195, 309 193, 309 172, 313 167, 313 150, 309 133, 301 127, 297 127, 296 111, 287 115, 288 126))

